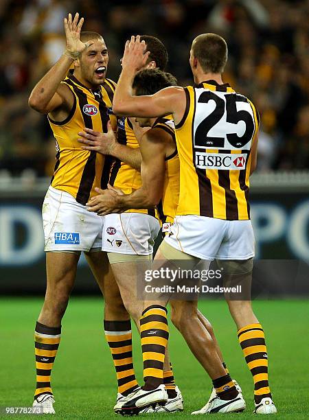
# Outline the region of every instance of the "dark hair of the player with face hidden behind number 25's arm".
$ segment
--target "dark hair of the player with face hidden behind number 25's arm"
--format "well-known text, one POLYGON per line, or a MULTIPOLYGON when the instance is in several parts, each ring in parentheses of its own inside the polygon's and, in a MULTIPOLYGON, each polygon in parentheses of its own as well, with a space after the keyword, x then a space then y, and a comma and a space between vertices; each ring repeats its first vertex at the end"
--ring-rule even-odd
POLYGON ((177 80, 170 73, 159 69, 144 69, 139 71, 133 80, 135 95, 154 95, 168 86, 176 86, 177 80))

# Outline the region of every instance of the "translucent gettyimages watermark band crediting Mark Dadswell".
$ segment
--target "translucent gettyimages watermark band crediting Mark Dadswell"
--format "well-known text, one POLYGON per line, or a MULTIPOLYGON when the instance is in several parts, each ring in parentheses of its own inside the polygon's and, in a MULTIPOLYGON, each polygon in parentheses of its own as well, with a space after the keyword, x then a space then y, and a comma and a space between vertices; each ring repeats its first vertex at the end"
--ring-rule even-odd
POLYGON ((309 296, 309 261, 248 259, 195 261, 155 260, 137 272, 137 299, 229 300, 309 296))

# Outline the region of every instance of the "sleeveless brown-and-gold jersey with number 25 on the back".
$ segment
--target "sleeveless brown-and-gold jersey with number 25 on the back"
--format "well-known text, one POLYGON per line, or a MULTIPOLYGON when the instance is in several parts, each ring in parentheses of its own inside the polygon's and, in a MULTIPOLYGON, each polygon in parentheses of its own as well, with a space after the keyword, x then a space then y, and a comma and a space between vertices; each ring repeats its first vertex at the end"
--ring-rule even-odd
POLYGON ((180 160, 177 215, 248 220, 257 110, 229 84, 214 80, 187 86, 185 95, 185 115, 176 125, 180 160))

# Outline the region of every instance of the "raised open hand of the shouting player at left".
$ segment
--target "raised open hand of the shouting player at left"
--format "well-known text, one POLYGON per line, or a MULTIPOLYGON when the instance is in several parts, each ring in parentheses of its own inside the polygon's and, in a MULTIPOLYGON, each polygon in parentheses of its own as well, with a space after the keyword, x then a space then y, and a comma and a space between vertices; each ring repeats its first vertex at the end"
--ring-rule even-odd
POLYGON ((65 38, 67 40, 67 47, 65 50, 65 55, 70 56, 71 58, 78 58, 84 49, 93 45, 93 41, 89 40, 87 43, 82 43, 80 40, 80 30, 82 29, 82 24, 84 23, 84 18, 81 18, 78 22, 79 14, 76 13, 72 21, 72 15, 69 13, 69 16, 65 18, 65 38))

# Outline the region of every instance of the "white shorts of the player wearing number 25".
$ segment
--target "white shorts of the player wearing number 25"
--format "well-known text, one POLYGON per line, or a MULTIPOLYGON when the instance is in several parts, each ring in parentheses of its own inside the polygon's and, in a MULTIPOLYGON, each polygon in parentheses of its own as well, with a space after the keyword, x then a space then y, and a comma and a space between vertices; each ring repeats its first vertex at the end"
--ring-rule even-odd
POLYGON ((170 246, 201 259, 249 259, 254 257, 251 220, 221 220, 200 215, 174 218, 164 240, 170 246))

